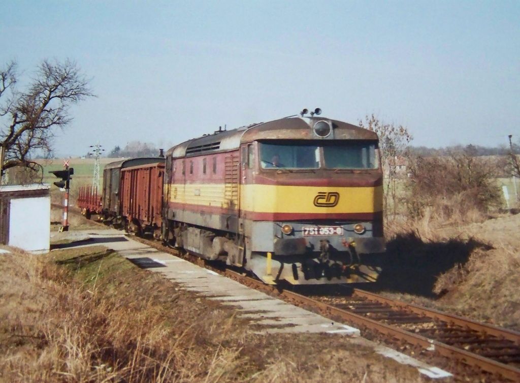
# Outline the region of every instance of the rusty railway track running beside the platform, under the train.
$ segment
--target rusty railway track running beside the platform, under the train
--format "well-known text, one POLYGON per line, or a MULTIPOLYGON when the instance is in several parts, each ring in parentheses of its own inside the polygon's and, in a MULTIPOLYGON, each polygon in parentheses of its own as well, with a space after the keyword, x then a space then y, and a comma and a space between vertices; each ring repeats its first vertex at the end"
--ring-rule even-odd
MULTIPOLYGON (((137 237, 136 239, 178 255, 177 251, 167 249, 157 241, 137 237)), ((516 331, 478 323, 468 318, 389 299, 360 289, 352 289, 348 296, 302 295, 265 285, 257 279, 229 269, 220 270, 209 266, 200 258, 185 258, 232 277, 242 284, 319 311, 324 316, 353 323, 393 340, 405 341, 490 374, 520 381, 520 333, 516 331)))

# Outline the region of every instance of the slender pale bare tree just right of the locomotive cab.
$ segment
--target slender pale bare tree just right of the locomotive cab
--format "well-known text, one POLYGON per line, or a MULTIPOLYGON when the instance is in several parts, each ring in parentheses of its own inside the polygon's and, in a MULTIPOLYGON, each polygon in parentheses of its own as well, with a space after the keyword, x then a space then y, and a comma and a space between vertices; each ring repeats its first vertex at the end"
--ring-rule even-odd
POLYGON ((392 200, 392 211, 396 214, 396 195, 397 195, 397 166, 401 158, 408 157, 408 144, 413 137, 408 129, 402 125, 385 123, 380 121, 372 113, 365 116, 365 121, 359 120, 359 126, 371 130, 378 134, 379 148, 381 152, 381 162, 383 169, 386 170, 386 193, 384 194, 384 212, 388 216, 389 203, 392 200), (390 198, 388 198, 390 197, 390 198))

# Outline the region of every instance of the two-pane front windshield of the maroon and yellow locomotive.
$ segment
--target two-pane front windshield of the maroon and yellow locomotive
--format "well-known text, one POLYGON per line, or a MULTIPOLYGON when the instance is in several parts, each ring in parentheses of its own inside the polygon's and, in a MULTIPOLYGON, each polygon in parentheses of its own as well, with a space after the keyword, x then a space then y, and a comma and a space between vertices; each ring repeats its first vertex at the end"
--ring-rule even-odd
POLYGON ((319 143, 259 143, 263 169, 378 169, 373 141, 329 141, 319 143), (321 156, 321 152, 323 156, 321 156))

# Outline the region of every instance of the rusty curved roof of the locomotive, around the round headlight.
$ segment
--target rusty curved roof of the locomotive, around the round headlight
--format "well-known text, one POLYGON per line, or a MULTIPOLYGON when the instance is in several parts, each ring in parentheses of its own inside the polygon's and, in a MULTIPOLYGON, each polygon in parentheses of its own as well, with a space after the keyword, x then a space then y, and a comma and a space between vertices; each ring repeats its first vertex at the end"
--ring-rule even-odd
POLYGON ((166 152, 166 156, 192 157, 210 152, 236 150, 241 143, 264 139, 368 139, 377 140, 376 133, 362 127, 343 121, 321 117, 284 118, 264 123, 242 126, 223 132, 204 135, 176 145, 166 152), (313 127, 319 121, 325 121, 332 126, 328 137, 319 137, 313 127))

